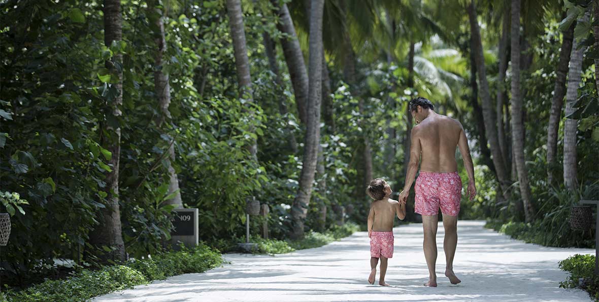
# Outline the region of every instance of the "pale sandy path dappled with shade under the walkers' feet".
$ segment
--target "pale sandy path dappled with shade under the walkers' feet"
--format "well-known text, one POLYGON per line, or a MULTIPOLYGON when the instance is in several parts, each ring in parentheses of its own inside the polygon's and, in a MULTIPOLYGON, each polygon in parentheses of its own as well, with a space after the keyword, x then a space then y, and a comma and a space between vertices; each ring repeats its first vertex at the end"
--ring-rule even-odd
MULTIPOLYGON (((482 221, 458 222, 455 272, 443 276, 443 225, 437 246, 438 288, 426 288, 422 225, 395 228, 389 260, 390 287, 369 285, 367 233, 358 232, 315 249, 277 255, 225 255, 230 264, 206 273, 183 274, 98 297, 95 301, 591 301, 580 290, 559 288, 566 273, 558 261, 591 249, 545 248, 483 228, 482 221)), ((378 275, 377 275, 378 282, 378 275)))

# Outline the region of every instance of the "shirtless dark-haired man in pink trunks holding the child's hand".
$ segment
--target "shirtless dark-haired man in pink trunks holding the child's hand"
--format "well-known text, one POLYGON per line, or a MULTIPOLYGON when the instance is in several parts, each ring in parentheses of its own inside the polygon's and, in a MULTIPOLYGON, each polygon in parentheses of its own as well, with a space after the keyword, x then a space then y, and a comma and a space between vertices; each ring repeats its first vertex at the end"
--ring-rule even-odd
POLYGON ((452 284, 458 284, 461 280, 453 273, 453 256, 458 244, 457 225, 462 181, 457 172, 455 149, 458 147, 462 158, 464 158, 464 166, 469 179, 467 193, 472 200, 476 195, 476 185, 474 184, 474 167, 468 148, 468 139, 462 124, 453 118, 437 114, 428 99, 416 97, 410 101, 408 106, 417 125, 411 133, 412 145, 406 184, 398 199, 400 202, 407 200, 412 182, 418 172, 418 161, 422 156, 420 175, 416 179, 414 189, 416 191, 414 211, 422 215, 423 249, 429 273, 429 280, 424 285, 437 286, 435 263, 437 262, 436 236, 439 207, 443 213, 443 227, 445 228, 443 240, 447 263, 445 276, 449 277, 452 284))

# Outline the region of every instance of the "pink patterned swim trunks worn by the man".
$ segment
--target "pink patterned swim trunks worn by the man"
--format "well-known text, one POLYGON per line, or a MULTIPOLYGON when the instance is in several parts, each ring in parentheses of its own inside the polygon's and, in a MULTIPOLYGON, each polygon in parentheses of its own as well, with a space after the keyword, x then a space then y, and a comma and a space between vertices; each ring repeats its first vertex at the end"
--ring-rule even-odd
POLYGON ((420 171, 414 190, 416 191, 414 205, 416 213, 437 215, 441 207, 443 215, 458 215, 459 201, 462 196, 462 179, 458 172, 420 171))

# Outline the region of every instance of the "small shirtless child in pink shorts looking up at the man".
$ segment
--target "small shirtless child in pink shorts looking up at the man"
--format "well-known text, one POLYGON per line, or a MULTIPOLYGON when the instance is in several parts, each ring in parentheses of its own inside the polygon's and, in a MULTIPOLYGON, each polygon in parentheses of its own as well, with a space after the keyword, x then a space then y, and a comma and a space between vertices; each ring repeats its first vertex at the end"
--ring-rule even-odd
POLYGON ((391 187, 383 179, 377 178, 370 182, 366 193, 374 201, 368 213, 368 237, 370 237, 370 276, 368 283, 374 284, 376 266, 380 258, 379 285, 385 283, 387 259, 393 257, 393 222, 395 215, 403 220, 406 218, 406 203, 389 199, 391 187))

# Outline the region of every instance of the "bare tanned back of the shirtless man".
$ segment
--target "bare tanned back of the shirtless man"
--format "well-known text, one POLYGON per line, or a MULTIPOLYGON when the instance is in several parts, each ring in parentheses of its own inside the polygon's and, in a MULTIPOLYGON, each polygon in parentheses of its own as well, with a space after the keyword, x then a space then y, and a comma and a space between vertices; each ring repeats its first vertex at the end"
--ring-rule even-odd
POLYGON ((420 142, 421 171, 455 172, 458 170, 455 150, 463 133, 462 125, 458 121, 445 115, 431 114, 416 125, 412 133, 420 142))

